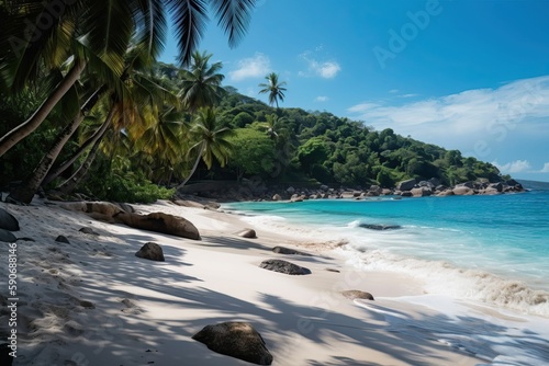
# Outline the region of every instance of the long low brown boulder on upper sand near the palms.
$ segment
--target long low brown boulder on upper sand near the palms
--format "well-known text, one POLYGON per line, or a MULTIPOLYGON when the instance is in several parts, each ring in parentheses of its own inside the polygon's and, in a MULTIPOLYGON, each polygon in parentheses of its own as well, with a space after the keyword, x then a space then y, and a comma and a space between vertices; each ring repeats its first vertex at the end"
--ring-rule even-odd
POLYGON ((115 216, 115 219, 135 229, 201 240, 197 227, 191 221, 179 216, 165 213, 152 213, 148 215, 120 213, 115 216))

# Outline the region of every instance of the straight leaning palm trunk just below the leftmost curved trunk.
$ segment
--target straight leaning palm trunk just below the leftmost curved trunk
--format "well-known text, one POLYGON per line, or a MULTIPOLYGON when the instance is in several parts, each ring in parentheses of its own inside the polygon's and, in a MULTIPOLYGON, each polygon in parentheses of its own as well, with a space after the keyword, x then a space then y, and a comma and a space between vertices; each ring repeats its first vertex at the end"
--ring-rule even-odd
POLYGON ((78 115, 72 119, 70 124, 65 126, 65 128, 57 135, 52 148, 46 155, 42 158, 38 165, 33 170, 31 178, 29 178, 23 185, 13 190, 8 198, 11 198, 16 202, 21 202, 24 204, 30 204, 34 197, 34 194, 41 186, 44 178, 52 169, 52 165, 55 162, 55 159, 59 156, 65 144, 67 144, 68 139, 72 134, 75 134, 76 129, 80 126, 83 121, 85 114, 82 111, 89 111, 90 104, 96 103, 98 98, 97 93, 100 91, 98 89, 96 93, 93 93, 88 101, 82 105, 82 108, 78 112, 78 115))

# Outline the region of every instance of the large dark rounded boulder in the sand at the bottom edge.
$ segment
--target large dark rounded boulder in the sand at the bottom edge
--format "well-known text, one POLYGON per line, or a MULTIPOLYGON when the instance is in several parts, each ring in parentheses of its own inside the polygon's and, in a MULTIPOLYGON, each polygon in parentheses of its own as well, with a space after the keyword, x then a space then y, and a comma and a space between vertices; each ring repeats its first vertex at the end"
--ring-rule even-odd
POLYGON ((249 323, 224 322, 206 325, 192 339, 223 355, 256 365, 272 363, 272 355, 267 350, 264 339, 249 323))

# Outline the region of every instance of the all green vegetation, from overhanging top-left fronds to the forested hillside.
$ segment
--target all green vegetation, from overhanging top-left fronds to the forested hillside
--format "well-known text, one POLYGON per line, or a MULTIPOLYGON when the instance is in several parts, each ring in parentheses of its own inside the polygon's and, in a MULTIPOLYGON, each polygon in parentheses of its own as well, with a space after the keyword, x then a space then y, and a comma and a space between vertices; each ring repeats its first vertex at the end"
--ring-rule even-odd
POLYGON ((280 107, 287 83, 276 72, 258 85, 268 104, 223 85, 222 64, 197 49, 208 7, 235 45, 254 4, 1 1, 0 187, 8 198, 30 203, 45 190, 153 202, 191 179, 337 186, 502 179, 490 163, 390 128, 280 107), (170 18, 179 66, 157 61, 170 18))

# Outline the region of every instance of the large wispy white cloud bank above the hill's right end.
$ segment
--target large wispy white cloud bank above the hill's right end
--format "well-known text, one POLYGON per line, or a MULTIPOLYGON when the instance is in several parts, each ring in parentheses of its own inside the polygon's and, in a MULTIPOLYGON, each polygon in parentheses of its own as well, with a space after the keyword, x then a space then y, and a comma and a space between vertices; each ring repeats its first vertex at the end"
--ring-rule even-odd
MULTIPOLYGON (((390 91, 392 92, 392 91, 390 91)), ((378 129, 391 127, 401 135, 486 158, 509 137, 549 138, 549 76, 517 80, 497 89, 475 89, 424 99, 402 105, 366 101, 350 106, 351 118, 378 129), (475 146, 484 147, 483 153, 475 146), (466 152, 468 153, 468 152, 466 152)), ((508 141, 507 141, 508 142, 508 141)))

